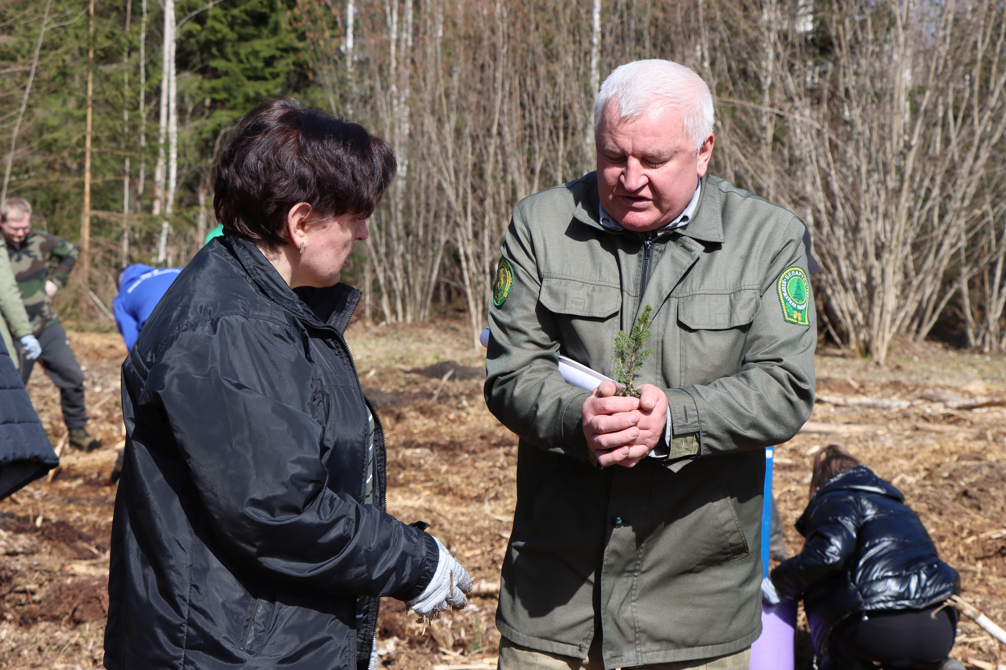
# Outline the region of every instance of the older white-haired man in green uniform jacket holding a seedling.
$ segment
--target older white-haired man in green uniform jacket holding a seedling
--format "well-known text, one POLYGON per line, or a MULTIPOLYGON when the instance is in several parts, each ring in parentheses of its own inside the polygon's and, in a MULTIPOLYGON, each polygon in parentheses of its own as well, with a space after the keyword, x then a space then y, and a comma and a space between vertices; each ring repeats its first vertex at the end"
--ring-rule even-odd
POLYGON ((520 436, 496 623, 500 668, 747 668, 761 633, 764 447, 814 404, 804 226, 707 175, 705 82, 616 69, 598 170, 521 201, 501 249, 486 402, 520 436), (646 305, 642 397, 612 377, 646 305))

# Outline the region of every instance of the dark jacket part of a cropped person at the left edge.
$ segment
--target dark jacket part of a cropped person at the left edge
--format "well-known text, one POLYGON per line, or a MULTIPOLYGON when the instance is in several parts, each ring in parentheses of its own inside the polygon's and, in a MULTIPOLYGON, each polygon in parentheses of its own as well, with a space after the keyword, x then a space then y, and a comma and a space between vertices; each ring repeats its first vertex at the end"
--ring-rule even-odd
POLYGON ((56 452, 0 339, 0 498, 57 465, 56 452))

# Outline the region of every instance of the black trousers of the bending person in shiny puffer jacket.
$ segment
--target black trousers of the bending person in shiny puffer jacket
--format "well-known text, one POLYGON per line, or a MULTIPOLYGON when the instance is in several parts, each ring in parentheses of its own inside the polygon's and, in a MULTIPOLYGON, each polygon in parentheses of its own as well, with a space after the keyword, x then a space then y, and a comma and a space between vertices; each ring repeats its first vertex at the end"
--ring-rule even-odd
POLYGON ((954 647, 960 616, 952 607, 938 609, 853 614, 835 627, 829 642, 839 652, 835 656, 876 661, 884 670, 936 668, 954 647))

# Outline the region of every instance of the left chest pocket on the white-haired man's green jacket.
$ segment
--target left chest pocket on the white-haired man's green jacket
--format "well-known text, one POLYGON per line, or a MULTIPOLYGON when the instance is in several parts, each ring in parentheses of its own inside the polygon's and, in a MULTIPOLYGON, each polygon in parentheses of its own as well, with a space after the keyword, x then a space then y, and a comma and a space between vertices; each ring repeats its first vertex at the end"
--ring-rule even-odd
POLYGON ((619 329, 622 289, 579 279, 544 277, 538 301, 555 316, 562 354, 610 375, 608 355, 619 329))

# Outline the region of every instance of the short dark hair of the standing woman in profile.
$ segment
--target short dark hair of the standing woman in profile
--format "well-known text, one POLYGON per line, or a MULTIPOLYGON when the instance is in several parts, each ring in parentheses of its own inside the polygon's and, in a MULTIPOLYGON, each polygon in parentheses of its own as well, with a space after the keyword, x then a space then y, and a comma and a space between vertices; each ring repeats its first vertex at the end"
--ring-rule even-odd
POLYGON ((394 152, 360 126, 290 99, 244 115, 214 170, 213 209, 226 230, 276 250, 289 244, 287 213, 366 218, 394 178, 394 152))

